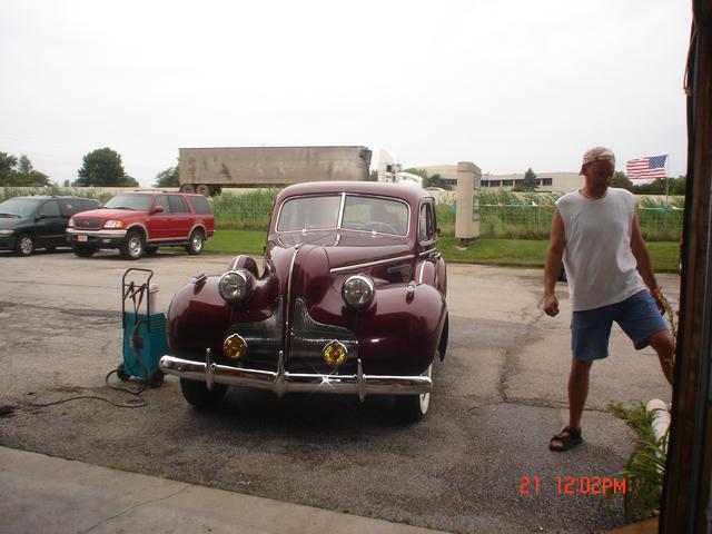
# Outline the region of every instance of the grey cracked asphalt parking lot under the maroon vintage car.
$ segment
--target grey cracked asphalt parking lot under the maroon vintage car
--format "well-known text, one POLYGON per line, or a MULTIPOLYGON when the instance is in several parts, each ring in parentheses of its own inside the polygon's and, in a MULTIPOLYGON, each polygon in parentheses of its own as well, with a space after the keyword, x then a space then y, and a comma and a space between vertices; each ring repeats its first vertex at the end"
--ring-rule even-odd
MULTIPOLYGON (((655 354, 614 329, 611 357, 593 367, 584 444, 551 453, 567 416, 571 312, 560 285, 562 313, 543 314, 541 270, 448 266, 448 354, 418 424, 399 423, 387 398, 231 390, 206 414, 184 402, 175 377, 140 406, 106 387, 121 360, 123 271, 152 269, 165 310, 191 276, 229 260, 0 254, 0 404, 18 407, 0 417, 0 445, 456 533, 623 523, 621 495, 566 494, 557 477, 613 477, 634 436, 606 406, 668 402, 670 388, 655 354)), ((679 278, 659 279, 676 300, 679 278)))

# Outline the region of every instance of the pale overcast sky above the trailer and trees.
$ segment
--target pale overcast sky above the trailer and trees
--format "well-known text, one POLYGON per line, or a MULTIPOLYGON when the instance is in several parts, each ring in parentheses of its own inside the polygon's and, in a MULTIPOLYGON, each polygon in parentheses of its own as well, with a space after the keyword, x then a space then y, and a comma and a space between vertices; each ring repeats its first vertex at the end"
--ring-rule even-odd
POLYGON ((685 174, 690 0, 2 0, 0 151, 57 182, 118 151, 365 145, 405 167, 685 174))

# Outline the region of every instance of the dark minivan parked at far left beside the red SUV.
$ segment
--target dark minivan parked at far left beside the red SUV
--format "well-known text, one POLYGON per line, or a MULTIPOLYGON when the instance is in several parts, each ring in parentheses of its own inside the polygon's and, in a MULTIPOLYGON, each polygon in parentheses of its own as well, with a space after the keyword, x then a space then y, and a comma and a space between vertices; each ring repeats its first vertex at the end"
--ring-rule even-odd
POLYGON ((37 248, 68 247, 65 230, 69 218, 98 206, 98 200, 82 197, 10 198, 0 204, 0 250, 30 256, 37 248))

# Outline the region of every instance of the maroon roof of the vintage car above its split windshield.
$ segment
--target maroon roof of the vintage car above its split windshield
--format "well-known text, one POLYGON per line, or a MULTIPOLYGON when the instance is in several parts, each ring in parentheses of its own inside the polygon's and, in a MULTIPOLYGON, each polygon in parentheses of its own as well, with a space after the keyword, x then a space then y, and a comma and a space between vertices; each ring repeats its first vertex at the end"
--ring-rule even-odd
POLYGON ((358 195, 377 195, 384 197, 400 198, 411 205, 417 205, 423 198, 431 198, 427 191, 419 187, 402 184, 385 184, 379 181, 307 181, 284 188, 277 200, 300 195, 334 192, 353 192, 358 195))

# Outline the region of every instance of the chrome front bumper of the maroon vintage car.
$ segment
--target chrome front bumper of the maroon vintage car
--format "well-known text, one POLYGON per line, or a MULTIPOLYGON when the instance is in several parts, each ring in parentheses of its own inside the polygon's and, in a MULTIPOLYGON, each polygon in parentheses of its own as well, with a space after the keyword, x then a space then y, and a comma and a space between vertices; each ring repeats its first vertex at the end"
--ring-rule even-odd
POLYGON ((208 389, 214 384, 225 384, 268 389, 278 397, 285 393, 356 394, 363 402, 366 395, 419 395, 429 393, 433 388, 433 380, 428 376, 365 375, 360 359, 357 360, 355 375, 288 373, 285 370, 281 350, 276 372, 218 365, 212 359, 210 349, 206 350, 205 363, 162 356, 160 369, 180 378, 205 382, 208 389))

